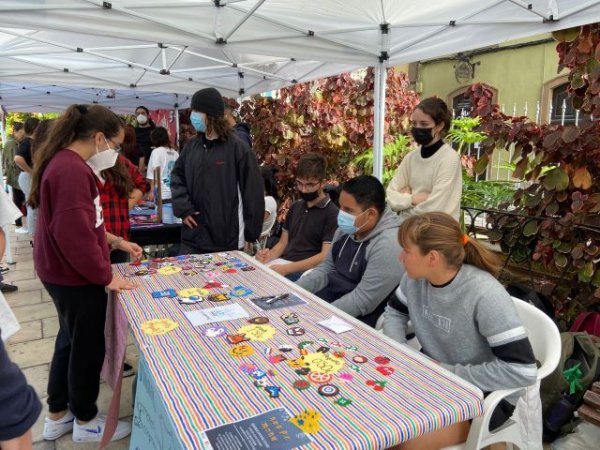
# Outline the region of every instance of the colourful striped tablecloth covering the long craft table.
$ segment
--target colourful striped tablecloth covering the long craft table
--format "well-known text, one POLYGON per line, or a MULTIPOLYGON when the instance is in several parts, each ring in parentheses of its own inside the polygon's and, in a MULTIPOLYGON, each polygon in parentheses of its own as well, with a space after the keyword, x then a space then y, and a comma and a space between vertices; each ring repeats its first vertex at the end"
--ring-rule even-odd
MULTIPOLYGON (((227 262, 224 255, 214 255, 213 261, 227 262)), ((307 304, 295 306, 293 310, 262 311, 244 298, 232 298, 220 303, 205 301, 194 305, 180 305, 174 298, 152 298, 153 291, 202 288, 212 279, 200 271, 194 276, 179 272, 169 276, 155 274, 135 278, 141 287, 120 294, 140 352, 185 448, 204 448, 201 433, 207 429, 279 407, 285 407, 292 415, 307 409, 322 414, 321 429, 312 435, 313 443, 306 447, 320 449, 384 449, 482 413, 482 393, 471 384, 274 274, 253 258, 241 252, 229 252, 228 256, 239 258, 256 270, 238 269, 236 273, 217 270, 218 281, 231 287, 248 287, 254 291, 250 297, 291 292, 306 300, 307 304), (268 317, 270 325, 277 328, 274 337, 266 342, 244 342, 255 348, 252 356, 232 357, 229 354, 232 345, 225 337, 207 337, 202 332, 211 325, 193 327, 184 316, 186 311, 223 306, 231 302, 241 304, 250 317, 268 317), (290 326, 282 321, 281 315, 287 312, 298 315, 300 322, 294 326, 304 328, 304 335, 286 334, 285 330, 290 326), (316 323, 332 315, 343 318, 354 329, 335 334, 316 323), (144 322, 164 318, 177 322, 179 327, 158 336, 141 331, 144 322), (306 390, 295 389, 294 381, 308 378, 296 373, 286 361, 271 363, 265 354, 267 347, 272 349, 272 354, 277 354, 280 345, 288 344, 294 350, 285 353, 285 356, 299 358, 298 344, 302 341, 314 341, 314 345, 307 348, 310 352, 315 352, 319 346, 329 346, 329 343, 345 346, 335 347, 339 344, 334 344, 330 350, 345 352, 345 366, 341 372, 353 377, 348 382, 341 379, 340 373, 333 376, 330 383, 339 388, 338 396, 321 396, 317 391, 318 386, 314 384, 306 390), (353 347, 356 347, 355 351, 353 347), (356 364, 352 361, 354 356, 364 356, 367 362, 356 364), (379 364, 374 359, 378 356, 390 359, 386 366, 394 370, 391 376, 383 376, 376 370, 379 364), (263 371, 274 371, 269 384, 281 388, 280 396, 270 398, 267 392, 257 388, 253 384, 254 379, 240 369, 243 363, 253 363, 263 371), (360 372, 353 370, 352 365, 360 367, 360 372), (375 391, 372 384, 367 384, 369 380, 385 381, 384 389, 375 391), (335 400, 340 396, 352 400, 352 404, 345 407, 336 404, 335 400)), ((185 261, 174 264, 187 265, 185 261)), ((127 264, 114 267, 122 275, 139 269, 127 264)), ((231 289, 212 291, 228 293, 231 289)), ((248 322, 247 319, 238 319, 224 325, 230 334, 235 334, 248 322)))

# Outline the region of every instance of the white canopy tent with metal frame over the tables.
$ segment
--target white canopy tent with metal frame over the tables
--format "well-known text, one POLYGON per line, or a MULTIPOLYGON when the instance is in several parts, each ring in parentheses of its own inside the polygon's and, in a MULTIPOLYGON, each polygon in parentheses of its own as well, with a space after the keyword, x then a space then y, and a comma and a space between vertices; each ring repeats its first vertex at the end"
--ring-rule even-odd
POLYGON ((2 0, 0 104, 176 108, 374 66, 380 176, 386 67, 597 21, 600 0, 2 0))

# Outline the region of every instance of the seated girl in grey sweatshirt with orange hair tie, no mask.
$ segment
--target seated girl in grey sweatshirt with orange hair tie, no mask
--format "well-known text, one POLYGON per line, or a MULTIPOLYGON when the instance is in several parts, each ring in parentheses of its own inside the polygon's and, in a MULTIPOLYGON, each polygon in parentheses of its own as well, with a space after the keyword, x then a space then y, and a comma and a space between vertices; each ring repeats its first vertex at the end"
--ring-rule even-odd
MULTIPOLYGON (((405 274, 385 310, 384 334, 406 342, 410 319, 423 353, 484 393, 534 384, 533 350, 510 295, 496 279, 496 256, 464 235, 445 213, 410 217, 398 236, 405 274)), ((510 417, 517 399, 499 405, 491 429, 510 417)), ((462 428, 454 438, 466 438, 468 426, 454 426, 462 428)), ((443 439, 450 428, 430 434, 443 439)), ((460 442, 444 442, 442 447, 460 442)), ((429 441, 410 448, 433 445, 429 441)))

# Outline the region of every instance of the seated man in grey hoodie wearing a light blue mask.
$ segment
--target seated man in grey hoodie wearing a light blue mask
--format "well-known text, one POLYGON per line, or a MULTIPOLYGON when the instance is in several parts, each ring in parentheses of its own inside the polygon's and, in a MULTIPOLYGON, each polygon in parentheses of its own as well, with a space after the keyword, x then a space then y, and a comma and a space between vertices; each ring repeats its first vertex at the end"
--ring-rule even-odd
POLYGON ((338 230, 325 260, 296 283, 375 326, 404 269, 398 260, 398 216, 370 175, 342 186, 338 230))

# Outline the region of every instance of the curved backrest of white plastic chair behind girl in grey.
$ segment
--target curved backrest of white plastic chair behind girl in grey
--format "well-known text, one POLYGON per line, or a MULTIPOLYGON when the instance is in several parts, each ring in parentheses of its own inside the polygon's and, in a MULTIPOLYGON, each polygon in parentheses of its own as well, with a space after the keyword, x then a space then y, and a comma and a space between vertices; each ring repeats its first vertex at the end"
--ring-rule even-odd
POLYGON ((513 297, 523 326, 527 330, 533 354, 539 361, 538 380, 550 375, 560 360, 561 340, 558 328, 544 312, 513 297))

